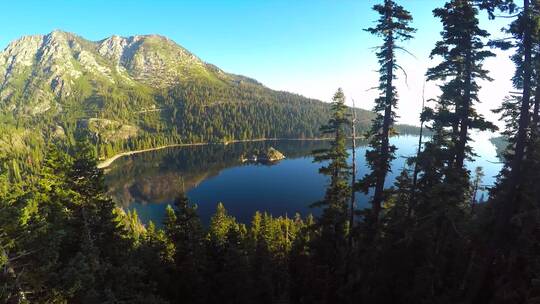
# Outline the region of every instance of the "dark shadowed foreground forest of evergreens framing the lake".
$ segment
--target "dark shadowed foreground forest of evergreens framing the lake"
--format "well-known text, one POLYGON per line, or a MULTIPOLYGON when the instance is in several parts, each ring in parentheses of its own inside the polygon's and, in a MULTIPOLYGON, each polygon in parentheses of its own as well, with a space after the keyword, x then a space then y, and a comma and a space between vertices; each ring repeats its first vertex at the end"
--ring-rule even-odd
POLYGON ((107 195, 97 163, 112 148, 100 152, 84 132, 50 140, 29 170, 0 155, 0 302, 540 303, 540 2, 449 0, 433 11, 443 30, 426 79, 440 95, 422 109, 416 155, 385 187, 397 150, 396 53, 416 32, 406 3, 381 0, 365 29, 380 41, 371 128, 357 134, 341 89, 320 126, 330 145, 313 151, 328 178, 319 216, 257 212, 241 223, 218 204, 203 225, 178 191, 164 222, 144 225, 107 195), (480 14, 506 18, 506 38, 491 40, 480 14), (497 131, 475 110, 496 48, 513 52, 514 91, 496 110, 504 166, 479 201, 482 171, 466 164, 472 134, 497 131), (357 137, 369 141, 367 174, 348 161, 357 137), (357 193, 370 194, 368 208, 357 208, 357 193))

